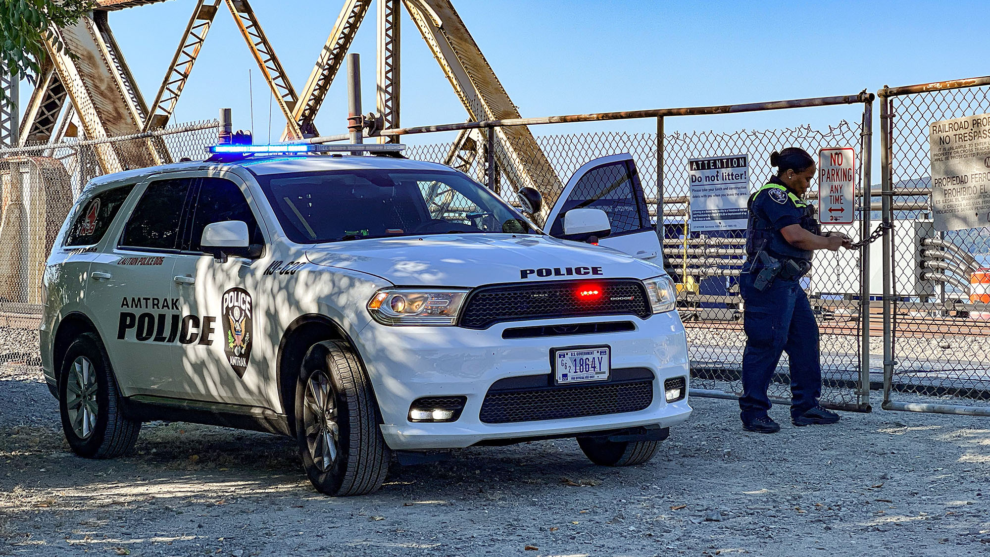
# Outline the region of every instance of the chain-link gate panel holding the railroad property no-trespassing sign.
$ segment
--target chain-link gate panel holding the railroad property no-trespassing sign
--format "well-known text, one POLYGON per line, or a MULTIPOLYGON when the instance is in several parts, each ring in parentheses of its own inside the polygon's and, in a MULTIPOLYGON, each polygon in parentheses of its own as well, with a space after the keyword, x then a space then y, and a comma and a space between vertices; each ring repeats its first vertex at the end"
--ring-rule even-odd
POLYGON ((990 415, 990 229, 936 228, 930 157, 933 123, 990 113, 990 79, 884 88, 879 96, 881 198, 894 224, 884 270, 884 407, 990 415))

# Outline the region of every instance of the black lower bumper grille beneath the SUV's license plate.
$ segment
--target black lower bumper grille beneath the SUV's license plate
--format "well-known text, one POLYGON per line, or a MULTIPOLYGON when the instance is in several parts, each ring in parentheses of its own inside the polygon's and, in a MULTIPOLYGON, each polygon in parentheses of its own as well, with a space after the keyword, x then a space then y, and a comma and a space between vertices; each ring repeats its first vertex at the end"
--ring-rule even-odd
POLYGON ((492 385, 481 404, 484 423, 514 423, 635 412, 653 401, 649 370, 612 370, 607 383, 556 387, 550 376, 509 378, 492 385))

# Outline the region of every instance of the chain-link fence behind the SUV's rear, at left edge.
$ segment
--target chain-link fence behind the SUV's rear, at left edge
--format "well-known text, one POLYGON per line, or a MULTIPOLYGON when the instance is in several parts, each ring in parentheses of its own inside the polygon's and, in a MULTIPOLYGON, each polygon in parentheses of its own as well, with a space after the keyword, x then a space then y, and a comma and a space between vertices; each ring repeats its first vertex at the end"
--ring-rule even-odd
POLYGON ((90 179, 112 171, 202 161, 218 122, 124 138, 0 150, 0 365, 41 365, 38 325, 45 262, 65 216, 90 179))

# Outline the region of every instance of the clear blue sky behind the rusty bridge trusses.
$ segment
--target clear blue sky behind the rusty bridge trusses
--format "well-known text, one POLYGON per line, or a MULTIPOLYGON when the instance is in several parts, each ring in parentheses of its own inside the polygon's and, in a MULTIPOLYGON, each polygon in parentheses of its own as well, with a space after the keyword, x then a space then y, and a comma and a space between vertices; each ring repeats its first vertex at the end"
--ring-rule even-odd
MULTIPOLYGON (((150 102, 193 0, 110 14, 110 25, 150 102)), ((293 85, 301 89, 342 6, 340 1, 253 0, 293 85)), ((454 6, 523 116, 729 104, 876 91, 990 73, 990 42, 977 21, 985 2, 593 2, 455 0, 454 6), (969 23, 967 23, 969 22, 969 23)), ((361 54, 364 112, 374 107, 374 10, 351 52, 361 54)), ((402 22, 402 124, 459 122, 466 112, 408 16, 402 22)), ((225 9, 217 16, 174 121, 234 110, 255 138, 268 135, 269 93, 225 9)), ((345 72, 316 123, 342 133, 345 72)), ((28 87, 22 96, 27 100, 28 87)), ((669 119, 668 131, 820 127, 859 109, 835 107, 729 117, 669 119)), ((284 125, 272 108, 272 138, 284 125)), ((535 128, 537 134, 650 132, 652 120, 535 128)), ((446 139, 434 136, 431 140, 446 139)))

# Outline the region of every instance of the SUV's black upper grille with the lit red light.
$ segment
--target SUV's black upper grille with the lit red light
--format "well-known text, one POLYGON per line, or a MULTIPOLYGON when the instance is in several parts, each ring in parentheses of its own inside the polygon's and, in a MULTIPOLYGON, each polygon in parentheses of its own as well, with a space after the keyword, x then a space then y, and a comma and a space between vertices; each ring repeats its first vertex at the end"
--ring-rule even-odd
POLYGON ((468 295, 459 325, 485 329, 504 321, 588 315, 645 318, 650 313, 643 282, 631 278, 493 284, 468 295), (601 295, 591 300, 580 299, 580 289, 588 286, 601 290, 601 295))

